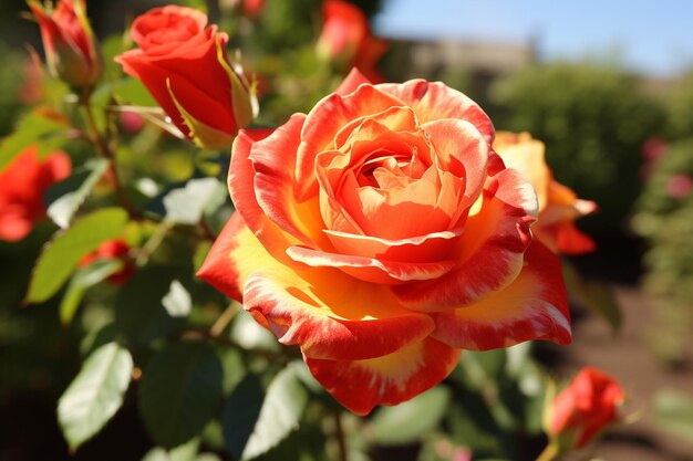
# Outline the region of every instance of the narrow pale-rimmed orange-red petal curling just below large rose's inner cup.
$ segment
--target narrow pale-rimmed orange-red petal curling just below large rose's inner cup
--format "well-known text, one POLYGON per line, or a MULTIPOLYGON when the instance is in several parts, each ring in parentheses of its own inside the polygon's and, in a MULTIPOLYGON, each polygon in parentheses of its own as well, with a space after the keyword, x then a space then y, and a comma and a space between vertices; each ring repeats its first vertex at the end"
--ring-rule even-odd
POLYGON ((397 262, 375 258, 329 253, 304 247, 289 247, 287 254, 311 268, 338 268, 364 282, 397 284, 439 277, 455 266, 455 261, 397 262))

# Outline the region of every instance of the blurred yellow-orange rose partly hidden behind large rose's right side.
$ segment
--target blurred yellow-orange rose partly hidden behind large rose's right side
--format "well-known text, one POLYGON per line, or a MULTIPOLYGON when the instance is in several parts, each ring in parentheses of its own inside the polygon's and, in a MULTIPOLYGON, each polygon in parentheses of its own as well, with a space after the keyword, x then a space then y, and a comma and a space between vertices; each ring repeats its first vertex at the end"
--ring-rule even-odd
POLYGON ((594 241, 580 232, 573 221, 597 211, 597 203, 581 200, 554 179, 545 160, 544 143, 529 133, 498 132, 494 150, 508 168, 520 171, 531 182, 539 200, 539 220, 531 228, 535 237, 548 248, 565 254, 594 250, 594 241))

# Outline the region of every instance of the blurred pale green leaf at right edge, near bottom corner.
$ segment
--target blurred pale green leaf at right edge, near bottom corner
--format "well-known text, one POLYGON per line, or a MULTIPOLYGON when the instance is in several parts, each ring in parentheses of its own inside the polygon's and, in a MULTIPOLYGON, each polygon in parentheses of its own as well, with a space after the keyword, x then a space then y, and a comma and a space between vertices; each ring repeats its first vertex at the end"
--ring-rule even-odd
POLYGON ((654 396, 654 427, 693 443, 693 397, 676 390, 654 396))

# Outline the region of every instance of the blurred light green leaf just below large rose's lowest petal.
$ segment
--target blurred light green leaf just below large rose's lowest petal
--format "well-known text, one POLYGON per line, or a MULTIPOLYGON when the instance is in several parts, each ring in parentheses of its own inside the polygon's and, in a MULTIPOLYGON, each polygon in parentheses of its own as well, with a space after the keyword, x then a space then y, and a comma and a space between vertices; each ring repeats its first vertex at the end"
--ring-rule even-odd
POLYGON ((420 440, 441 422, 449 399, 449 390, 437 386, 396 407, 379 409, 371 420, 373 441, 387 446, 420 440))

